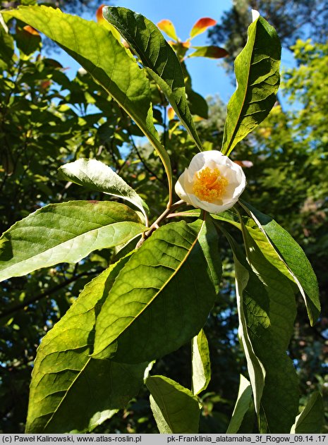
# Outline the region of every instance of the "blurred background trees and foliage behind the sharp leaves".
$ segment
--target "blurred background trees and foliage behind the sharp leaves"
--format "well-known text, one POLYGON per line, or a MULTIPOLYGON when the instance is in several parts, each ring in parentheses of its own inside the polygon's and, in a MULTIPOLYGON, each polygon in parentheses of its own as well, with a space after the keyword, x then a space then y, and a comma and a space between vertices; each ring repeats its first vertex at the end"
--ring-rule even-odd
MULTIPOLYGON (((264 8, 262 13, 266 16, 265 7, 269 8, 271 3, 263 1, 256 6, 264 8)), ((1 5, 7 6, 4 2, 1 5)), ((237 6, 236 2, 234 7, 237 6)), ((324 8, 324 1, 317 2, 317 8, 324 8)), ((277 11, 281 15, 284 10, 277 11)), ((272 16, 274 11, 268 20, 272 16)), ((283 18, 288 22, 288 16, 283 18)), ((142 197, 147 196, 153 214, 158 213, 168 193, 166 180, 159 157, 151 147, 135 142, 140 130, 85 71, 81 69, 75 79, 68 80, 61 64, 44 56, 40 36, 24 26, 18 21, 9 35, 0 28, 1 232, 44 204, 104 200, 101 193, 59 181, 59 166, 80 157, 114 166, 116 173, 142 197)), ((311 37, 317 35, 311 33, 311 37)), ((297 102, 297 111, 276 106, 260 128, 238 145, 233 157, 243 164, 248 177, 244 199, 274 215, 293 234, 317 273, 323 316, 310 328, 303 305, 298 305, 289 353, 300 375, 304 400, 314 389, 320 390, 326 396, 327 417, 328 318, 324 314, 328 312, 324 264, 328 262, 328 171, 323 161, 328 151, 328 45, 323 39, 298 41, 295 29, 287 37, 286 44, 294 44, 297 66, 285 73, 282 92, 293 103, 297 102)), ((229 36, 220 43, 229 48, 229 36)), ((194 154, 194 144, 176 120, 163 112, 168 104, 161 92, 154 87, 152 93, 162 142, 176 175, 194 154)), ((223 138, 224 104, 218 98, 209 99, 208 104, 209 118, 196 125, 201 140, 215 150, 223 138)), ((205 405, 201 432, 226 431, 238 392, 238 370, 245 369, 236 338, 233 260, 226 252, 229 250, 223 245, 221 302, 214 307, 205 326, 212 380, 201 396, 205 405)), ((115 249, 92 252, 75 266, 61 264, 4 282, 0 313, 2 432, 23 432, 32 360, 40 339, 115 254, 115 249)), ((190 349, 183 347, 158 360, 154 373, 189 387, 189 363, 190 349)), ((110 424, 104 422, 95 429, 102 431, 157 432, 147 394, 141 391, 110 424)))

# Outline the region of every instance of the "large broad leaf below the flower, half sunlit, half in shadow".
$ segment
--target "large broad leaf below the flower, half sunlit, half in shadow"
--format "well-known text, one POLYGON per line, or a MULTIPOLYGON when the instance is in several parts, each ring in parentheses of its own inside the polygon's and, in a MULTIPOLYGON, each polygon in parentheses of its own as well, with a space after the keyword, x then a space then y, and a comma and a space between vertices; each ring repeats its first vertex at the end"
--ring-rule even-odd
POLYGON ((94 357, 150 361, 180 348, 204 326, 220 277, 209 219, 157 229, 109 292, 97 317, 94 357))

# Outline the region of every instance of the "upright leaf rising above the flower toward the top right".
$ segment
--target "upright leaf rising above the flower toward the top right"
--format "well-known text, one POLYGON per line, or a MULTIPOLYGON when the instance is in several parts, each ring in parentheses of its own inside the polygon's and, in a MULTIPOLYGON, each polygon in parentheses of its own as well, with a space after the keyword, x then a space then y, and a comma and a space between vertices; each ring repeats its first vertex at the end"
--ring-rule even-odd
POLYGON ((233 147, 262 122, 276 102, 281 46, 277 32, 259 17, 248 28, 248 41, 236 57, 238 87, 229 100, 222 152, 233 147))

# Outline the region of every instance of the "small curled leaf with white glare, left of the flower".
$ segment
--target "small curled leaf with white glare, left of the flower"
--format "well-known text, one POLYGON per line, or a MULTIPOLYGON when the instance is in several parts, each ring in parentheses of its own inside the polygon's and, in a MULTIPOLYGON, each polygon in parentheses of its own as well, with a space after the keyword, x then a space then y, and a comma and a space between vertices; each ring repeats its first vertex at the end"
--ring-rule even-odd
POLYGON ((147 221, 149 209, 145 201, 109 166, 96 159, 78 159, 65 164, 59 168, 59 177, 132 202, 147 221))

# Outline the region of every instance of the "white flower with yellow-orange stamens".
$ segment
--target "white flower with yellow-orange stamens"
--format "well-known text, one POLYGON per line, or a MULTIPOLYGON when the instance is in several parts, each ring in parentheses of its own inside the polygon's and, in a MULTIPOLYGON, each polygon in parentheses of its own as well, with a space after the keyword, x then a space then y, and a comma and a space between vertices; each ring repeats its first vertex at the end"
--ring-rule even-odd
POLYGON ((176 194, 209 213, 219 214, 236 204, 245 189, 241 166, 217 150, 196 154, 176 183, 176 194))

